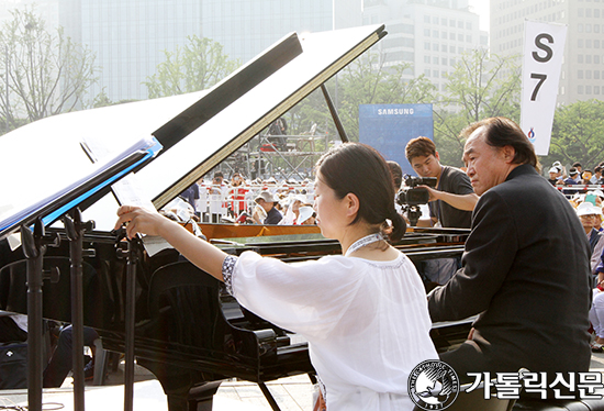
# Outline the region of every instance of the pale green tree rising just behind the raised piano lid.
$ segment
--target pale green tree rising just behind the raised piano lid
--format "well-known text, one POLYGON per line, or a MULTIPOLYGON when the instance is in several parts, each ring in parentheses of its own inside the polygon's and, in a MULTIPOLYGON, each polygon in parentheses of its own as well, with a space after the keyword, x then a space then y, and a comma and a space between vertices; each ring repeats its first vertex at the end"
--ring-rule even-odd
POLYGON ((195 35, 188 37, 184 47, 165 51, 166 60, 147 77, 149 98, 183 95, 205 90, 234 71, 241 64, 223 53, 220 43, 195 35))

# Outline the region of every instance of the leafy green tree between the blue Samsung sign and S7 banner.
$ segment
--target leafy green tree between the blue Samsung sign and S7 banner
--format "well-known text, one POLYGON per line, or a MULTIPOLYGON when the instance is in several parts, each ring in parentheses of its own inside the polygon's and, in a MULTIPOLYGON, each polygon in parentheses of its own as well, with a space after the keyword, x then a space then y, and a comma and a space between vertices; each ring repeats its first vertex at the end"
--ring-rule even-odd
POLYGON ((490 116, 519 116, 521 68, 514 58, 472 49, 462 55, 448 76, 445 95, 436 104, 435 141, 444 164, 459 165, 465 142, 459 132, 490 116))

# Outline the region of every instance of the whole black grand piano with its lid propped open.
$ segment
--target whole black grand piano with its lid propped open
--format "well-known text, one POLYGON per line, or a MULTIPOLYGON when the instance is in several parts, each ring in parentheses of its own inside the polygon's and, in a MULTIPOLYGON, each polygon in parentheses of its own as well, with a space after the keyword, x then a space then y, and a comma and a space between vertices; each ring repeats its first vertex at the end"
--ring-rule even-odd
MULTIPOLYGON (((152 253, 145 238, 126 242, 112 230, 115 211, 128 201, 163 208, 317 88, 345 140, 323 84, 385 34, 383 25, 294 33, 211 90, 57 115, 0 137, 0 309, 32 315, 27 252, 19 246, 25 238, 18 234, 42 230, 55 238, 42 249, 44 273, 54 273, 54 280, 42 286, 44 318, 75 321, 79 314, 72 313, 70 301, 75 287, 81 287, 83 324, 99 332, 104 348, 125 352, 126 359, 132 344, 137 364, 161 382, 170 411, 211 410, 212 396, 226 378, 259 384, 277 410, 265 382, 298 374, 312 377, 305 342, 239 307, 219 281, 176 251, 152 253), (78 180, 99 162, 149 136, 163 147, 153 158, 134 163, 111 184, 78 180), (64 186, 86 196, 78 191, 69 197, 64 186), (47 207, 51 202, 58 206, 47 207), (72 233, 64 214, 88 223, 81 230, 78 286, 69 279, 72 233), (60 275, 53 271, 56 267, 60 275)), ((396 246, 415 263, 458 256, 467 234, 414 230, 396 246)), ((289 262, 340 253, 337 242, 320 235, 221 238, 220 246, 232 254, 254 249, 289 262)), ((447 349, 468 329, 468 323, 443 324, 435 327, 434 341, 447 349)))

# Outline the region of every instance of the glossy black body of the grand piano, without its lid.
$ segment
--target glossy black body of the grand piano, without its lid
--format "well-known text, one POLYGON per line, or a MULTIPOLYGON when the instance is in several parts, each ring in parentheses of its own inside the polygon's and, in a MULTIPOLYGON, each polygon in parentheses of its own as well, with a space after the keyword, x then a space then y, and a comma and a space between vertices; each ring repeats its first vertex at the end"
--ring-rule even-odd
MULTIPOLYGON (((44 318, 70 322, 69 254, 67 238, 57 248, 48 248, 46 269, 58 267, 58 282, 45 281, 44 318)), ((410 233, 398 245, 414 263, 428 258, 459 256, 466 233, 410 233)), ((256 238, 244 238, 256 240, 256 238)), ((244 242, 225 246, 238 255, 255 251, 286 262, 315 259, 339 254, 339 244, 329 240, 244 242)), ((119 258, 111 233, 93 232, 85 236, 85 246, 94 248, 94 257, 85 257, 85 323, 94 327, 103 347, 125 349, 125 260, 119 258)), ((213 277, 165 249, 153 257, 141 253, 136 270, 135 354, 137 364, 148 368, 161 382, 169 409, 190 410, 205 404, 221 381, 239 378, 260 385, 282 377, 314 373, 304 342, 292 343, 286 330, 243 309, 213 277)), ((26 313, 26 262, 12 256, 0 270, 0 302, 8 311, 26 313), (10 286, 9 286, 10 285, 10 286), (10 287, 13 287, 11 289, 10 287), (14 288, 16 287, 16 288, 14 288)), ((461 343, 469 322, 439 324, 433 341, 439 351, 461 343)), ((268 397, 270 398, 270 397, 268 397)), ((273 401, 269 399, 269 401, 273 401)))

